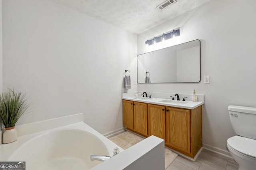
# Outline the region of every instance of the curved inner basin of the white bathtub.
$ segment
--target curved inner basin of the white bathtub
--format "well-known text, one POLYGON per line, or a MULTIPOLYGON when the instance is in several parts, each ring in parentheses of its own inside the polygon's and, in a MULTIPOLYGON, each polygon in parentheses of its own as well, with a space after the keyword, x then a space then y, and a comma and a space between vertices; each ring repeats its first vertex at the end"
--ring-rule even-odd
POLYGON ((79 129, 60 129, 30 139, 8 161, 26 161, 27 170, 88 170, 101 163, 90 161, 92 154, 109 155, 98 137, 79 129))

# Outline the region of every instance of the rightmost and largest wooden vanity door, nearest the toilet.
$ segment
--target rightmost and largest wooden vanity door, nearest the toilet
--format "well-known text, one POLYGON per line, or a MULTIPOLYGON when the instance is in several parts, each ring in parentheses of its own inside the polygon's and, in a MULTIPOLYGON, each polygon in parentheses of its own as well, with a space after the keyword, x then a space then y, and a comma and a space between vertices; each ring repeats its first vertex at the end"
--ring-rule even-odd
POLYGON ((166 107, 166 145, 190 153, 190 110, 166 107))

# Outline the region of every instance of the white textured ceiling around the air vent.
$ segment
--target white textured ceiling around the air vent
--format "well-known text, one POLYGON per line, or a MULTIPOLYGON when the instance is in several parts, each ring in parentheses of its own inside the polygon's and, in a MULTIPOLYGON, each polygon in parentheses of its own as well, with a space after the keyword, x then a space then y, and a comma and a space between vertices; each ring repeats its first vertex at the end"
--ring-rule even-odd
POLYGON ((142 33, 156 25, 196 8, 210 0, 177 0, 163 10, 165 0, 52 0, 132 33, 142 33))

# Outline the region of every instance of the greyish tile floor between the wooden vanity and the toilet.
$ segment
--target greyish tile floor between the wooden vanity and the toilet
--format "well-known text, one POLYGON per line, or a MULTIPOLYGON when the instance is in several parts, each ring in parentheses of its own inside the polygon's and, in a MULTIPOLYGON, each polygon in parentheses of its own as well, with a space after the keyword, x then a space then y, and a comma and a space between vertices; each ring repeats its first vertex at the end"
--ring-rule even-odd
POLYGON ((196 161, 178 156, 166 170, 238 170, 231 158, 203 149, 196 161))

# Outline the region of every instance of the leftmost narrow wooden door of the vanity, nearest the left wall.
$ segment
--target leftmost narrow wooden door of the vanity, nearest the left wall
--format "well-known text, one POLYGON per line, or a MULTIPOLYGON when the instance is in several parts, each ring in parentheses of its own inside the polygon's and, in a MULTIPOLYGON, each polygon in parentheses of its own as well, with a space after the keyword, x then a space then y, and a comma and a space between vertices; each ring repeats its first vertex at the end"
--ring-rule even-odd
POLYGON ((123 125, 124 127, 133 129, 133 102, 129 100, 123 100, 123 125))

